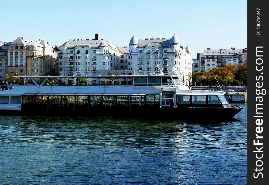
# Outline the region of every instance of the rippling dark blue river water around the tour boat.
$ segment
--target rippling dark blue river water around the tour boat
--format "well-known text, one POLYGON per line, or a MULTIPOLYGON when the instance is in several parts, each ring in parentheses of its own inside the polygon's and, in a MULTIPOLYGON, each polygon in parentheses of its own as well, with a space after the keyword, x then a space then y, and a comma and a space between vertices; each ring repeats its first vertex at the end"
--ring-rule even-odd
POLYGON ((0 183, 247 184, 240 106, 232 121, 0 116, 0 183))

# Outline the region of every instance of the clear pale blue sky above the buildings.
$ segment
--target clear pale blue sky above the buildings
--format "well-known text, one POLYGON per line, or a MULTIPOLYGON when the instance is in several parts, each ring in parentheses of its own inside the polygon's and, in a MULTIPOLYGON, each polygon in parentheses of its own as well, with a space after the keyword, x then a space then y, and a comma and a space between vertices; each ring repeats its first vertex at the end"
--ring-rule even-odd
POLYGON ((174 34, 197 52, 247 47, 247 1, 1 1, 0 41, 44 39, 61 46, 69 39, 105 39, 128 46, 131 37, 174 34), (8 30, 8 31, 7 31, 8 30))

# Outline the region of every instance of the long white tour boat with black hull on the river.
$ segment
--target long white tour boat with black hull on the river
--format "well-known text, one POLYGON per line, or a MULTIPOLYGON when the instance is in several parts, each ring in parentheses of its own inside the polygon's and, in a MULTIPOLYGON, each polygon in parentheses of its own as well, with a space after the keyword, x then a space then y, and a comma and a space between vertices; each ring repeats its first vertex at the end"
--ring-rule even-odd
POLYGON ((225 92, 191 90, 177 74, 19 77, 32 84, 1 90, 1 114, 200 119, 233 118, 242 109, 229 105, 225 92))

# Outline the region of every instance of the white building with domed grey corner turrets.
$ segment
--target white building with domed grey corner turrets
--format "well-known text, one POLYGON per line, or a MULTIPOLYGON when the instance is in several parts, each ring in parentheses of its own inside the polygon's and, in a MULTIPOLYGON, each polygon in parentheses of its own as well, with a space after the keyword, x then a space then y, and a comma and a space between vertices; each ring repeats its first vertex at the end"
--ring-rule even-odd
POLYGON ((184 73, 192 74, 192 52, 187 46, 184 48, 179 43, 177 36, 172 39, 137 39, 131 38, 128 51, 129 70, 135 70, 136 74, 159 74, 158 66, 164 74, 173 74, 172 68, 184 73))

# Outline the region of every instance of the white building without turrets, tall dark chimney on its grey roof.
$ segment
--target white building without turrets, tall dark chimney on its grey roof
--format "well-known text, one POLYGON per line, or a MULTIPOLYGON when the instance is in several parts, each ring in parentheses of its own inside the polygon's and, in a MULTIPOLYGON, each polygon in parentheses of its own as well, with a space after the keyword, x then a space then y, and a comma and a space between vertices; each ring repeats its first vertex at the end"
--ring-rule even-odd
POLYGON ((99 70, 123 69, 122 53, 105 40, 68 40, 60 46, 60 75, 96 75, 99 70))

